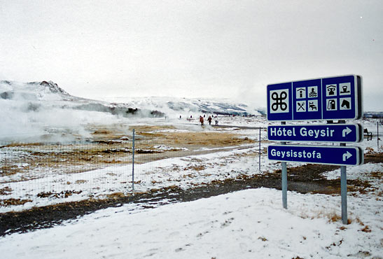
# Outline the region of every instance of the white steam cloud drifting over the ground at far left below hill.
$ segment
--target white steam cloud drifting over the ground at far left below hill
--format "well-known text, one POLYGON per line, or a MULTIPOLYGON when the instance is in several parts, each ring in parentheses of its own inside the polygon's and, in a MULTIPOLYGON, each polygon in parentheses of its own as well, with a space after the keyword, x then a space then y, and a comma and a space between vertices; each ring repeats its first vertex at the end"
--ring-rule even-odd
POLYGON ((90 137, 86 125, 118 122, 118 117, 97 111, 43 106, 26 111, 23 102, 9 100, 0 100, 0 106, 1 141, 83 141, 90 137))

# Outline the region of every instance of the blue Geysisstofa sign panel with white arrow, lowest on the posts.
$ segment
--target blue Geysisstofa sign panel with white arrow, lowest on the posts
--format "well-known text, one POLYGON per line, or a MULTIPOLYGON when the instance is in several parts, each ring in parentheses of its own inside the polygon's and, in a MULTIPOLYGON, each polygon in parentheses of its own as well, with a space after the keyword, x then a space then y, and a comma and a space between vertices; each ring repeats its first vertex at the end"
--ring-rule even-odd
POLYGON ((267 156, 269 160, 284 162, 327 165, 363 164, 363 151, 358 147, 270 145, 267 148, 267 156))

